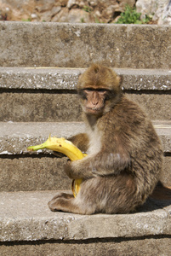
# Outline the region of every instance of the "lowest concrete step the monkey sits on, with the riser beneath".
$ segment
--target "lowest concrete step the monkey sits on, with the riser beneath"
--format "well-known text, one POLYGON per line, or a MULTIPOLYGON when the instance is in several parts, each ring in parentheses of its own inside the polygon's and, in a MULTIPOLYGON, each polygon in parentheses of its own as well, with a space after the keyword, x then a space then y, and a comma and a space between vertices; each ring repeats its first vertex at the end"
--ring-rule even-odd
POLYGON ((56 191, 0 193, 1 255, 170 255, 171 189, 132 214, 50 212, 56 191), (125 253, 126 252, 126 253, 125 253))

